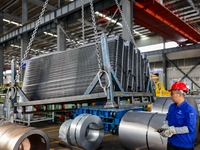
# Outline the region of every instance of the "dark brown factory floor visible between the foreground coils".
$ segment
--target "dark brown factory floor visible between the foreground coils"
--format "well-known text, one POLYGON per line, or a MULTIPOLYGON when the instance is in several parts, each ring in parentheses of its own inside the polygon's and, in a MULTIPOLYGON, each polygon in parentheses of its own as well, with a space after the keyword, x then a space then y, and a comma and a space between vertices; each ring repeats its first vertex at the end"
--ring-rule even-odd
MULTIPOLYGON (((59 138, 59 128, 61 124, 40 122, 31 124, 31 126, 37 127, 44 131, 50 139, 50 150, 82 150, 77 147, 67 147, 59 138)), ((200 150, 200 134, 198 135, 198 141, 195 144, 194 150, 200 150)), ((103 141, 98 148, 99 150, 124 150, 119 141, 119 136, 112 134, 105 134, 103 141)))

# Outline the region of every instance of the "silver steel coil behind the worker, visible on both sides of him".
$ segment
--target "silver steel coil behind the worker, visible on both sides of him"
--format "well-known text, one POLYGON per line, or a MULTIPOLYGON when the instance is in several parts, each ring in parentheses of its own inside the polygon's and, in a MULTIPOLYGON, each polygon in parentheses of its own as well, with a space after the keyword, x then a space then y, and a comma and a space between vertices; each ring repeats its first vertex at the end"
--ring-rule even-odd
MULTIPOLYGON (((189 97, 189 96, 186 97, 185 99, 197 110, 197 114, 199 114, 196 100, 193 97, 189 97)), ((172 103, 173 101, 171 100, 170 97, 158 97, 152 105, 151 112, 167 113, 169 106, 172 103)), ((197 118, 197 122, 196 122, 196 138, 198 136, 198 133, 199 133, 199 117, 197 118)))

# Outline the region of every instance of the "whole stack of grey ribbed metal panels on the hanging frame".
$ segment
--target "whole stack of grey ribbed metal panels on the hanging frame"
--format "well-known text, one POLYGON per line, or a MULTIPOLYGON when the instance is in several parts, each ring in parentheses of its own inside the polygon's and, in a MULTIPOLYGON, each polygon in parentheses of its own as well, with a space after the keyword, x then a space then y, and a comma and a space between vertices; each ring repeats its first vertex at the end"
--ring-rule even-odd
MULTIPOLYGON (((124 42, 120 36, 108 39, 108 48, 110 65, 124 91, 142 91, 143 82, 140 80, 145 77, 141 75, 141 70, 144 70, 144 74, 147 69, 146 61, 141 65, 140 51, 134 49, 131 42, 124 42)), ((100 44, 99 49, 101 52, 100 44)), ((29 60, 22 90, 29 100, 83 95, 98 71, 94 43, 54 52, 29 60)), ((119 89, 114 87, 114 90, 119 89)), ((103 92, 103 89, 98 84, 92 93, 99 92, 103 92)))

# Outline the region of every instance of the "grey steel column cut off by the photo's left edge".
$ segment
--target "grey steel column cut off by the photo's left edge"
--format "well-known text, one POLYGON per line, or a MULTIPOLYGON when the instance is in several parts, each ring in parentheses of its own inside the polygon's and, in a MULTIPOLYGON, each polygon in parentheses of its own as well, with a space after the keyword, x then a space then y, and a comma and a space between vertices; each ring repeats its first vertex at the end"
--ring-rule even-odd
MULTIPOLYGON (((3 33, 3 16, 0 15, 0 34, 3 33)), ((4 50, 3 44, 0 44, 0 83, 3 83, 3 68, 4 68, 4 50)))

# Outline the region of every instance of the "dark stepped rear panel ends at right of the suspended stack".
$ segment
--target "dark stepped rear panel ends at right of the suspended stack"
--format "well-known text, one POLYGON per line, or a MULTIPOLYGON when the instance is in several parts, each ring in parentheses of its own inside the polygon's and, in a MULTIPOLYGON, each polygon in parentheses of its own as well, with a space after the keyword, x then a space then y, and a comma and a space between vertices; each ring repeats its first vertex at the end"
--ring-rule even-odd
POLYGON ((146 92, 149 80, 149 65, 145 55, 141 55, 139 49, 134 48, 130 42, 124 42, 123 81, 125 91, 146 92))

